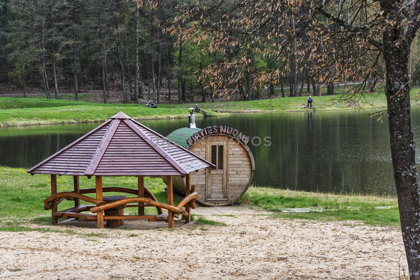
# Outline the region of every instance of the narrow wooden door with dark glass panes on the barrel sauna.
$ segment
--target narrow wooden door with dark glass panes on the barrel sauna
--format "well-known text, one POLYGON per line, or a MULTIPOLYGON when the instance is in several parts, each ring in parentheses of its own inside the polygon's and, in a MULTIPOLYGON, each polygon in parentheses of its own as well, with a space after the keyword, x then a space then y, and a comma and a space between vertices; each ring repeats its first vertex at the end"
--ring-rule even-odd
POLYGON ((228 141, 218 136, 206 139, 206 159, 216 165, 206 169, 206 200, 228 199, 228 141))

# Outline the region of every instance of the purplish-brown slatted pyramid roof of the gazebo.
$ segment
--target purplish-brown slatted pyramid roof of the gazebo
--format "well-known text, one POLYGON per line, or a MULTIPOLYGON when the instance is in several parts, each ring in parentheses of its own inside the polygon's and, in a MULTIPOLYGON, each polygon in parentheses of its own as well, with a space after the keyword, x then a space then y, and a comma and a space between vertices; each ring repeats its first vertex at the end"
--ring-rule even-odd
POLYGON ((27 172, 57 175, 186 175, 214 167, 120 112, 27 172))

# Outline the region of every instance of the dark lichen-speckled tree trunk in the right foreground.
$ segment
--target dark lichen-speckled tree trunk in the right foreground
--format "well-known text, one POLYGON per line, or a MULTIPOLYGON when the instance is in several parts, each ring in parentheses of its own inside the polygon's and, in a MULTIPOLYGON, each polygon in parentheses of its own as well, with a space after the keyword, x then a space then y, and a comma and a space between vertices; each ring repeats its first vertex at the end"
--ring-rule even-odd
POLYGON ((399 40, 399 46, 395 46, 399 36, 397 28, 391 29, 383 36, 389 141, 410 280, 419 280, 420 186, 415 160, 416 144, 411 126, 408 76, 410 49, 404 40, 399 40))

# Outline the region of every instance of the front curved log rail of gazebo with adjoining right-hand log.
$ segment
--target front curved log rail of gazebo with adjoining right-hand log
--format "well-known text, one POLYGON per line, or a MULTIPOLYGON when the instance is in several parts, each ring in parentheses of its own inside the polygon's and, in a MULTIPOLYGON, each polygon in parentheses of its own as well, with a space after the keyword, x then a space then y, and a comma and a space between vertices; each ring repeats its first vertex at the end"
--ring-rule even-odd
MULTIPOLYGON (((110 209, 110 208, 114 208, 123 204, 127 204, 127 203, 132 203, 132 202, 140 202, 140 203, 147 203, 156 207, 160 207, 160 208, 164 208, 167 209, 168 211, 174 212, 174 213, 178 213, 183 215, 184 217, 188 217, 188 213, 185 211, 185 209, 183 208, 185 204, 189 203, 190 201, 195 201, 198 197, 198 194, 196 192, 189 194, 188 196, 186 196, 184 199, 182 199, 177 206, 173 206, 173 205, 169 205, 169 204, 165 204, 159 201, 154 201, 150 198, 146 198, 146 197, 128 197, 125 199, 120 199, 118 201, 113 201, 113 202, 108 202, 106 204, 102 204, 99 206, 95 206, 90 208, 90 212, 92 213, 96 213, 98 211, 103 211, 106 209, 110 209)), ((194 205, 195 207, 195 205, 194 205)))

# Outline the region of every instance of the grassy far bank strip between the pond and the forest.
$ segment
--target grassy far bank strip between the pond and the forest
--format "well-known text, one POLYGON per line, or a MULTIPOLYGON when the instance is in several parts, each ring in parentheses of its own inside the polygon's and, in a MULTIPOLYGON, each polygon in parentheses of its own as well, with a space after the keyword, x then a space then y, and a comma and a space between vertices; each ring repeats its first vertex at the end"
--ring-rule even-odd
MULTIPOLYGON (((411 102, 419 105, 415 99, 417 89, 412 90, 411 102)), ((343 110, 348 109, 344 101, 334 100, 335 96, 313 97, 314 107, 317 110, 343 110)), ((207 102, 200 106, 213 115, 225 113, 266 112, 266 111, 300 111, 305 105, 307 97, 274 98, 254 101, 237 102, 207 102)), ((383 93, 367 95, 365 101, 360 101, 362 108, 386 107, 386 98, 383 93)), ((146 108, 142 104, 101 104, 74 100, 45 99, 45 97, 0 97, 0 126, 19 126, 49 123, 81 123, 104 121, 112 115, 123 111, 132 118, 186 118, 186 108, 194 103, 161 104, 159 108, 146 108)), ((197 114, 197 117, 202 116, 197 114)))

